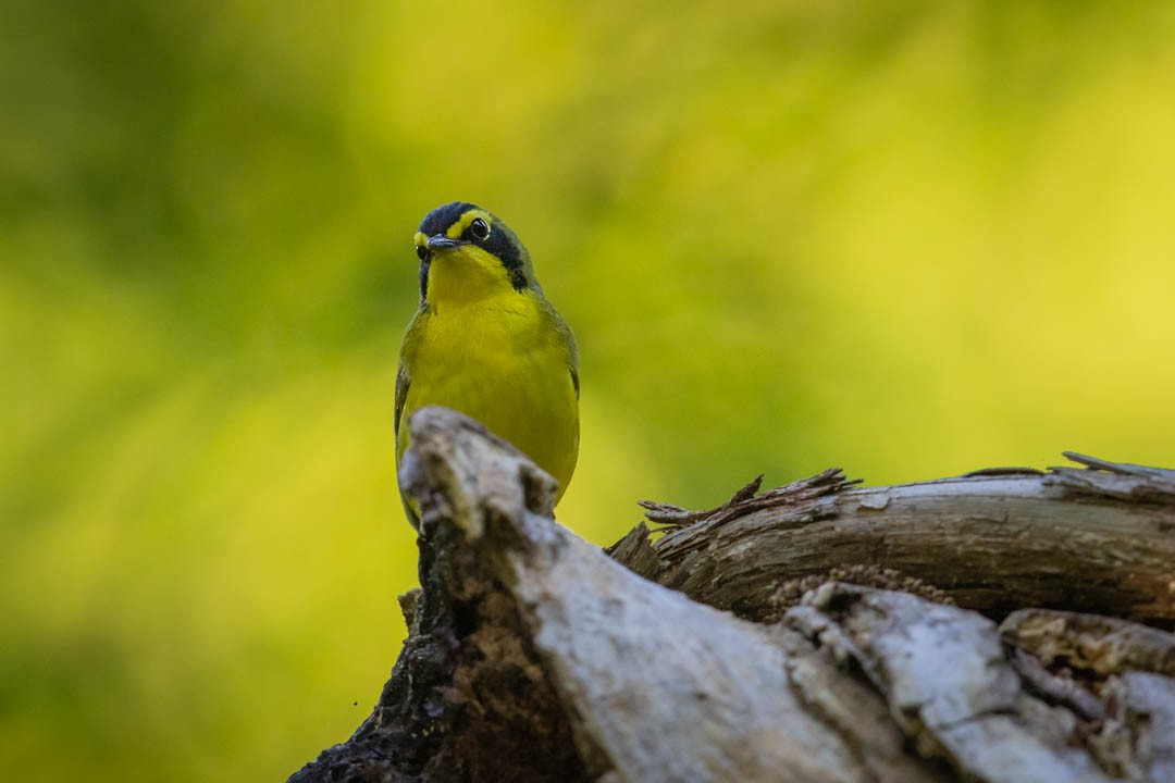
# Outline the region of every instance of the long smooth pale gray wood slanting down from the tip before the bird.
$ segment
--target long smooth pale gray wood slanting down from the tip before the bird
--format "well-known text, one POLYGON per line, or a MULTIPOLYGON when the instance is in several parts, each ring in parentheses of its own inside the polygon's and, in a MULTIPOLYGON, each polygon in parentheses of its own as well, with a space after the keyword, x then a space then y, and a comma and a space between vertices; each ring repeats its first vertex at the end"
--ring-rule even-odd
POLYGON ((637 576, 540 515, 550 477, 454 416, 411 420, 407 484, 423 495, 422 529, 444 515, 497 563, 580 747, 604 756, 593 763, 633 783, 870 779, 792 693, 773 634, 637 576))

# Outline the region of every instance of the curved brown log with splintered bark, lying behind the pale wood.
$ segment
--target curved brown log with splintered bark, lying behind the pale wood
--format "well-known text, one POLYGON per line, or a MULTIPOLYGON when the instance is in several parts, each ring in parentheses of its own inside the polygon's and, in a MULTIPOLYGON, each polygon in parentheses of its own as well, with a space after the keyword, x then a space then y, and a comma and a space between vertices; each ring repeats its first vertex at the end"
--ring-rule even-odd
POLYGON ((860 565, 992 617, 1053 607, 1175 627, 1175 471, 1069 457, 1096 470, 996 468, 858 488, 826 471, 763 494, 752 482, 706 512, 645 504, 669 532, 645 546, 638 527, 613 554, 765 622, 795 602, 795 580, 860 565))

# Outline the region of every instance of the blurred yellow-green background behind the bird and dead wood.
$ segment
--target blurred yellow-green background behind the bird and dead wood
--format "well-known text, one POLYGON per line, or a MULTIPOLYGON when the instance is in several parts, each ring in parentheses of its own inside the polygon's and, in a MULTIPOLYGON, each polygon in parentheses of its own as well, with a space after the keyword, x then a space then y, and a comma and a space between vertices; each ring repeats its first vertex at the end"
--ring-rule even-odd
POLYGON ((5 778, 281 779, 415 581, 410 237, 583 352, 560 520, 757 473, 1175 463, 1175 7, 0 6, 5 778))

